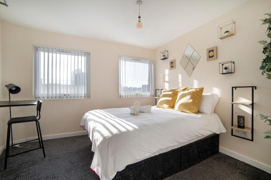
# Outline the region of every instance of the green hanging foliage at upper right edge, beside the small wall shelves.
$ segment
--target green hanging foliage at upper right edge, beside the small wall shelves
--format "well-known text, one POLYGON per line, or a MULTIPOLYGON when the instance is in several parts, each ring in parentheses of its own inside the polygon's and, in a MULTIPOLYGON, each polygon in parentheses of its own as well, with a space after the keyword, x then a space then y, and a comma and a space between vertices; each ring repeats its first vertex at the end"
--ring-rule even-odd
MULTIPOLYGON (((267 24, 267 37, 271 39, 271 13, 266 13, 264 15, 268 15, 268 18, 260 19, 263 23, 267 24)), ((259 41, 260 44, 263 45, 263 54, 265 58, 262 61, 260 66, 260 70, 262 70, 262 75, 266 74, 267 79, 271 79, 271 41, 267 42, 266 40, 259 41)))

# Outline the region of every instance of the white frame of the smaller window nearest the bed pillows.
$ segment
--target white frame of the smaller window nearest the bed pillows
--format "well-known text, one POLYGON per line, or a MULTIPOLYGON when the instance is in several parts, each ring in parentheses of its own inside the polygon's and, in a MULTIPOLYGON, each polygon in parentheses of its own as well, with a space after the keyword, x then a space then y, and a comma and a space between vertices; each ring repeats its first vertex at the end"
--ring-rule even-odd
POLYGON ((154 78, 153 77, 154 77, 154 60, 140 58, 140 57, 119 55, 119 84, 118 84, 118 86, 119 86, 119 94, 118 94, 118 97, 120 97, 120 98, 126 98, 126 97, 153 97, 154 96, 154 78), (149 63, 149 94, 133 94, 133 93, 121 94, 121 57, 128 58, 128 60, 125 60, 125 61, 130 61, 130 62, 146 61, 146 62, 143 62, 143 63, 149 63), (134 59, 134 61, 133 61, 133 59, 134 59))

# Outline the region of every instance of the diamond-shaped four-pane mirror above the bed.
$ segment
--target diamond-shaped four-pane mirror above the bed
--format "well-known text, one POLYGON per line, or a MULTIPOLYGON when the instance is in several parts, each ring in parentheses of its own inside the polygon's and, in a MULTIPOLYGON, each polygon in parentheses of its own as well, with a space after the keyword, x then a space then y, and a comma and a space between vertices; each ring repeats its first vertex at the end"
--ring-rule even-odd
POLYGON ((183 53, 183 57, 180 60, 180 64, 189 77, 193 73, 199 59, 201 59, 201 56, 193 49, 192 46, 190 46, 190 44, 188 44, 185 52, 183 53))

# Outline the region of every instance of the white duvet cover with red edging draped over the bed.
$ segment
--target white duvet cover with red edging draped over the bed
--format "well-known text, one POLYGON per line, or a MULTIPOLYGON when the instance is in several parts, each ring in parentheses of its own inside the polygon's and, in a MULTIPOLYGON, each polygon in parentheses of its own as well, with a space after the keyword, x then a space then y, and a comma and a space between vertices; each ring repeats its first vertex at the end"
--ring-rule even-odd
POLYGON ((213 133, 224 133, 217 114, 188 114, 152 107, 151 113, 130 115, 129 108, 87 112, 80 124, 95 152, 91 169, 101 180, 148 157, 178 148, 213 133))

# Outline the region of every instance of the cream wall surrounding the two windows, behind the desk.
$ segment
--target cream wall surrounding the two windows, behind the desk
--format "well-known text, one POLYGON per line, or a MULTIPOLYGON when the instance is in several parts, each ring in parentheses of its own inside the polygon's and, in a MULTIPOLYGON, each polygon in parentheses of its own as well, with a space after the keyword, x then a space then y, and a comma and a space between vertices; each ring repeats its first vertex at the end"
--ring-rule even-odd
MULTIPOLYGON (((109 31, 110 33, 110 31, 109 31)), ((91 99, 43 100, 41 108, 41 132, 43 135, 83 131, 81 118, 89 110, 132 106, 135 101, 153 105, 154 98, 118 97, 118 55, 154 59, 154 50, 104 42, 75 36, 49 33, 22 28, 2 21, 2 83, 14 83, 21 87, 12 100, 33 99, 33 45, 87 50, 91 52, 91 99)), ((2 91, 8 100, 8 91, 2 91)), ((12 107, 12 116, 35 115, 36 107, 12 107)), ((1 132, 6 137, 9 109, 1 108, 1 132)), ((12 125, 14 140, 36 136, 34 123, 12 125)))

